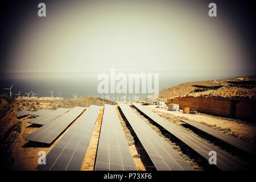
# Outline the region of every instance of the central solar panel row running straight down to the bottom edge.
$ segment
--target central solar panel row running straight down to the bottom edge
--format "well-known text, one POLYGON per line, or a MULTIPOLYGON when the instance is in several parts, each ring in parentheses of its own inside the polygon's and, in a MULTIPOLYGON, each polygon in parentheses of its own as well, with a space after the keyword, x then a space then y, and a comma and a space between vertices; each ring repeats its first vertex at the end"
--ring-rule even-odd
POLYGON ((114 105, 105 104, 94 170, 137 170, 114 105))

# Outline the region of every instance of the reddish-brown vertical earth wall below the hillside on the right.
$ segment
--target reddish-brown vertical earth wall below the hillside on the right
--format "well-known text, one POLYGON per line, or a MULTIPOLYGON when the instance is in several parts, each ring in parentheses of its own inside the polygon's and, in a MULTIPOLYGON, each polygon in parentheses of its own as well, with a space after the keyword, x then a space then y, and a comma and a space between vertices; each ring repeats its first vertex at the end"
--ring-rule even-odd
POLYGON ((190 107, 201 113, 221 115, 224 117, 237 117, 255 120, 255 101, 217 100, 203 97, 179 97, 168 99, 169 104, 179 104, 180 108, 190 107))

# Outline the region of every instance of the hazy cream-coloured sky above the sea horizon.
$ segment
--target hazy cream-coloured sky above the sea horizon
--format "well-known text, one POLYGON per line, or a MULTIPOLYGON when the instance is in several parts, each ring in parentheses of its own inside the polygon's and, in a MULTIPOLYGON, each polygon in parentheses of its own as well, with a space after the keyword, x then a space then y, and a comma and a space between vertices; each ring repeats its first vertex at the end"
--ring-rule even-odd
POLYGON ((208 1, 47 2, 46 18, 36 3, 20 16, 1 72, 255 68, 241 27, 218 3, 210 18, 208 1))

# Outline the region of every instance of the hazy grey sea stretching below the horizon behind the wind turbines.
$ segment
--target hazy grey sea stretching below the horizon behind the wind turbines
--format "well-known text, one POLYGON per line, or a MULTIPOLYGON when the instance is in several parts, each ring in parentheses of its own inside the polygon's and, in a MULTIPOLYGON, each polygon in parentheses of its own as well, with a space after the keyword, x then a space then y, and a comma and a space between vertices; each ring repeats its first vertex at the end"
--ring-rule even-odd
MULTIPOLYGON (((0 73, 0 94, 10 94, 9 90, 4 88, 10 88, 12 84, 12 93, 14 97, 26 96, 26 92, 38 93, 38 97, 51 97, 49 91, 54 90, 53 97, 73 98, 77 95, 79 97, 99 97, 107 98, 109 100, 121 101, 121 97, 126 96, 126 101, 134 101, 134 96, 137 96, 138 100, 143 100, 148 96, 152 96, 155 93, 142 93, 142 84, 140 82, 139 93, 129 93, 129 82, 127 81, 127 93, 99 93, 98 85, 102 80, 98 80, 98 76, 101 73, 109 76, 109 87, 110 87, 110 71, 88 71, 88 72, 34 72, 34 73, 0 73)), ((191 81, 206 81, 206 80, 217 80, 232 77, 242 77, 253 75, 253 71, 245 70, 167 70, 167 71, 119 71, 115 72, 122 73, 124 76, 129 73, 147 74, 152 75, 158 74, 158 89, 159 92, 165 88, 170 88, 175 85, 182 84, 183 82, 191 81)), ((153 84, 154 84, 153 80, 153 84)), ((115 80, 115 85, 118 81, 115 80)), ((154 89, 154 85, 151 84, 151 88, 154 89)))

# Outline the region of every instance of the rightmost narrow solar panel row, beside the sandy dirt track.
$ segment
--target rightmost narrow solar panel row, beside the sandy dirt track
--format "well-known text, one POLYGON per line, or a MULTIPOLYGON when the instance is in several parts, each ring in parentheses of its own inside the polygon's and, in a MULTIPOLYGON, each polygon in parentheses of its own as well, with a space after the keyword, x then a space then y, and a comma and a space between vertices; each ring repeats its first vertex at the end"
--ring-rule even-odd
POLYGON ((204 131, 205 133, 208 133, 209 135, 212 135, 213 137, 216 137, 226 143, 231 144, 234 147, 240 148, 243 151, 249 152, 250 154, 255 155, 255 146, 250 144, 249 142, 241 141, 237 138, 231 137, 229 135, 226 135, 220 131, 214 130, 211 127, 204 126, 200 123, 193 122, 193 121, 188 121, 185 119, 181 119, 181 121, 187 123, 188 125, 191 125, 193 127, 196 127, 197 129, 204 131))

